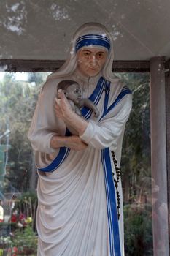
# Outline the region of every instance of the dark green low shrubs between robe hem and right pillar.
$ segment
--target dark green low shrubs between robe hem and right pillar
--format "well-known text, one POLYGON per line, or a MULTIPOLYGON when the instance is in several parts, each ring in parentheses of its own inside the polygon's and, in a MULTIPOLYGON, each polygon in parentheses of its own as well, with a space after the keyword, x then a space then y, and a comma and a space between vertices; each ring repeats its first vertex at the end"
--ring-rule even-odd
POLYGON ((152 255, 152 206, 124 206, 125 255, 152 255))

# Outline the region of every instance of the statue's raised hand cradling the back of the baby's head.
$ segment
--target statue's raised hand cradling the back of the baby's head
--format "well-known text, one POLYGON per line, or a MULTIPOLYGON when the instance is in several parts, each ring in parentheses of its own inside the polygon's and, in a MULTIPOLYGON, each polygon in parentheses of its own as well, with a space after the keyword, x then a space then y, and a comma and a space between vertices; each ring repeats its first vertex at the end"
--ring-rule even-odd
POLYGON ((63 90, 60 89, 58 90, 58 98, 55 98, 55 115, 64 120, 70 113, 72 113, 72 107, 63 90))

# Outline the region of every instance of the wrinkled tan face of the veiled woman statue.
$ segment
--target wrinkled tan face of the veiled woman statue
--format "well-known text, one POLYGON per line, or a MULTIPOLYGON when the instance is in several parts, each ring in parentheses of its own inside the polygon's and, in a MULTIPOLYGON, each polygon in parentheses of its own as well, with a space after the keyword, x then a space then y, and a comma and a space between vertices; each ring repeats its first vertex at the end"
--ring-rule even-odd
POLYGON ((96 76, 107 60, 108 51, 104 48, 80 48, 77 52, 77 68, 82 75, 96 76))

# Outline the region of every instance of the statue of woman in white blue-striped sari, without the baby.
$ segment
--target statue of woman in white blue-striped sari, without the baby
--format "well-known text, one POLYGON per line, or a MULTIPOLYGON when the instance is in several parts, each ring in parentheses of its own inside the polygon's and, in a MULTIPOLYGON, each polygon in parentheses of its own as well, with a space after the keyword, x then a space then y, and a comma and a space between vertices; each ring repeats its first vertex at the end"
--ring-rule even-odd
POLYGON ((39 174, 38 255, 124 255, 118 170, 131 91, 112 73, 113 57, 107 29, 86 23, 74 34, 65 64, 39 94, 28 132, 39 174), (62 90, 56 98, 58 83, 67 79, 79 83, 99 117, 87 107, 78 116, 62 90))

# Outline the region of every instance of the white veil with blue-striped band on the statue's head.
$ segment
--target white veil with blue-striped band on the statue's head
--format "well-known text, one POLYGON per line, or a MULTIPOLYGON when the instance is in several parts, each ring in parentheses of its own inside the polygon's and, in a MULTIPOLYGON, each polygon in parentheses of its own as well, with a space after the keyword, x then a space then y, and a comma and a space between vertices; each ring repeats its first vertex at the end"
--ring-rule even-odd
POLYGON ((77 67, 77 50, 79 50, 81 47, 88 46, 93 46, 96 48, 104 47, 109 50, 107 61, 102 70, 102 75, 106 80, 118 80, 118 78, 112 72, 112 62, 114 59, 113 39, 105 26, 99 23, 85 23, 84 25, 80 26, 79 29, 77 29, 72 37, 69 55, 65 63, 57 72, 49 75, 47 80, 51 78, 66 78, 66 76, 72 75, 77 67), (86 41, 83 41, 83 39, 86 39, 86 41), (78 45, 79 42, 80 45, 78 45))

